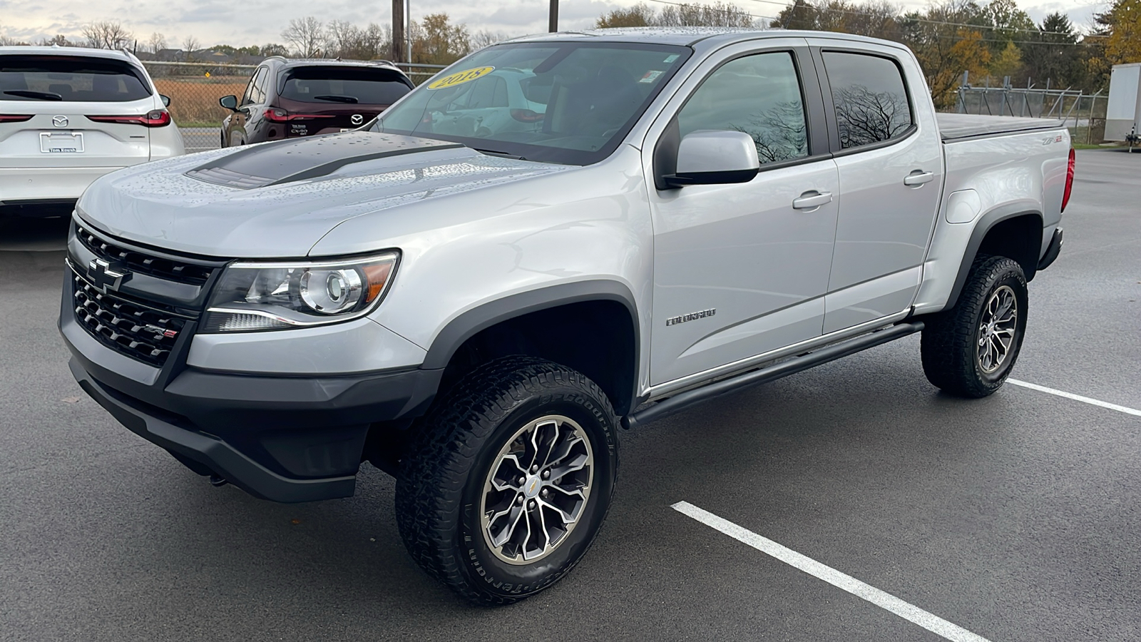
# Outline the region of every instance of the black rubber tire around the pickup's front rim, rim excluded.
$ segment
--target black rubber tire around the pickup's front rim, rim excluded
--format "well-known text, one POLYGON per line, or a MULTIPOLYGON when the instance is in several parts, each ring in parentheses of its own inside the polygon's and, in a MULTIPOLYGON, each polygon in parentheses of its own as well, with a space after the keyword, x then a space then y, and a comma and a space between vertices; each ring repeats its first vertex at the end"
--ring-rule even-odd
POLYGON ((511 356, 463 377, 412 428, 416 433, 400 458, 396 520, 412 559, 477 604, 509 604, 551 586, 586 553, 609 511, 617 426, 606 394, 556 363, 511 356), (575 527, 547 556, 509 564, 484 536, 485 481, 511 435, 553 414, 572 418, 589 435, 591 491, 575 527))

